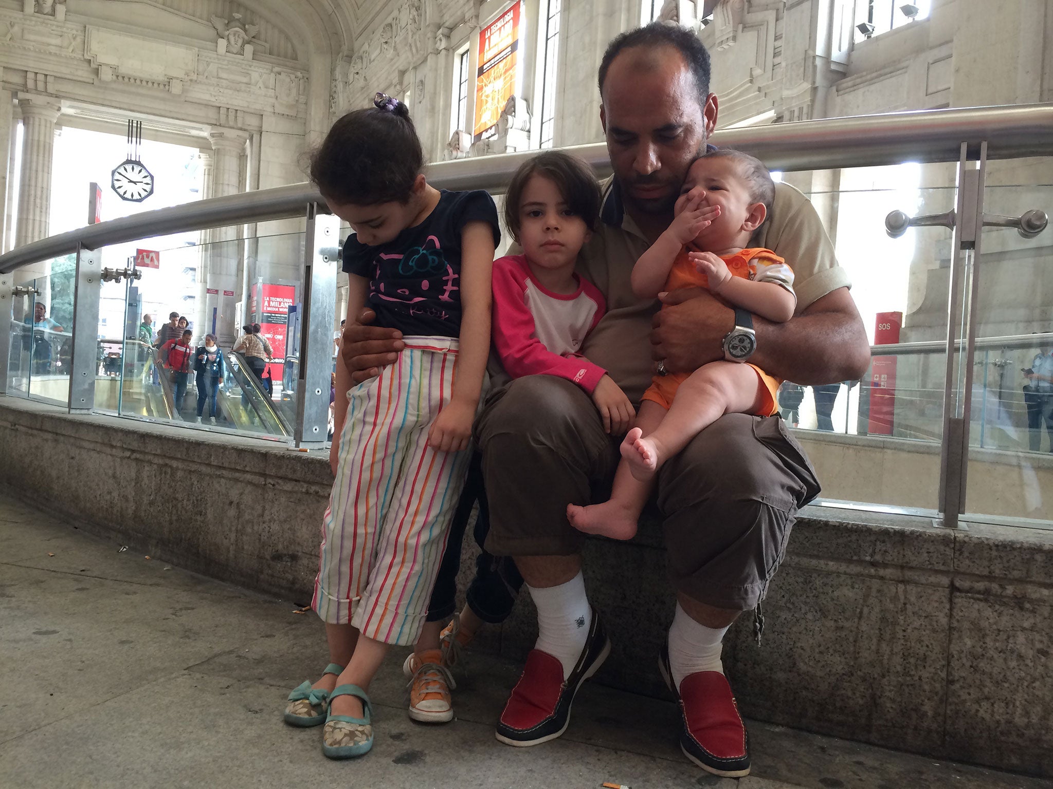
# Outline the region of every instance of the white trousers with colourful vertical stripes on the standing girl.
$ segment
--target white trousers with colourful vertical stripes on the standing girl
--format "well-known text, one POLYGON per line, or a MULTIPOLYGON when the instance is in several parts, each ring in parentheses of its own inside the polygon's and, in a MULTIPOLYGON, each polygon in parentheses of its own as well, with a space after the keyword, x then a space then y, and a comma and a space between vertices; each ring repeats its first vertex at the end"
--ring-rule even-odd
POLYGON ((406 337, 378 378, 347 392, 311 607, 385 644, 417 641, 471 452, 428 430, 453 391, 457 340, 406 337))

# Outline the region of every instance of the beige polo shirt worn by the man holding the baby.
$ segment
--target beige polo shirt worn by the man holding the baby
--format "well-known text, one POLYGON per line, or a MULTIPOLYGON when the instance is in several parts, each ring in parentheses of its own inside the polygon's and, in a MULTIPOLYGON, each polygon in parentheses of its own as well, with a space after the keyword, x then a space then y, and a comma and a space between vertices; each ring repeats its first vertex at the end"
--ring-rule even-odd
MULTIPOLYGON (((581 352, 638 403, 651 383, 651 320, 659 303, 633 296, 630 275, 650 244, 624 213, 614 178, 601 188, 599 229, 582 248, 577 270, 603 294, 607 315, 585 338, 581 352)), ((793 268, 798 313, 832 290, 851 287, 819 215, 793 186, 775 185, 771 216, 753 245, 773 250, 793 268)))

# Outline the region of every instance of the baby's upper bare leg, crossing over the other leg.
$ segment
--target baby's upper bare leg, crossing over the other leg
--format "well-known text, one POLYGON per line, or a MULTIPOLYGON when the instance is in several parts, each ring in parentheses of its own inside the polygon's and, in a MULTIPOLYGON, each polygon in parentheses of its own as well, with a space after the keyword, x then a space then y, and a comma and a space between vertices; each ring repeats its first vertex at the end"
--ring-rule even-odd
POLYGON ((641 438, 630 430, 622 443, 637 480, 650 480, 662 464, 677 454, 699 432, 726 413, 753 413, 766 391, 757 371, 738 362, 710 362, 691 373, 676 390, 665 418, 641 438), (634 452, 627 451, 633 441, 634 452))

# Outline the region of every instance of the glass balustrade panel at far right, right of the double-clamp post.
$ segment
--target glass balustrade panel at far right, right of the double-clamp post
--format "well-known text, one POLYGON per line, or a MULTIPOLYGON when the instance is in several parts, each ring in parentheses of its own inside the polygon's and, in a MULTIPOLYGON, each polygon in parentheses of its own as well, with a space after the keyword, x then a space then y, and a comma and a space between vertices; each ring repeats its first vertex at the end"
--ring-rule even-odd
MULTIPOLYGON (((987 221, 1033 210, 1053 214, 1053 159, 988 162, 987 221)), ((966 518, 1053 527, 1053 228, 982 232, 966 518)))

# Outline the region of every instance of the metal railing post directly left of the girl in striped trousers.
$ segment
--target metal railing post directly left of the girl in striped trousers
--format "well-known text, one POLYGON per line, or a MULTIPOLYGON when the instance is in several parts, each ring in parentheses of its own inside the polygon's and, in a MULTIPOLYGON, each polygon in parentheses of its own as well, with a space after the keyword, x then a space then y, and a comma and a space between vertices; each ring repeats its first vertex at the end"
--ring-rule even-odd
POLYGON ((329 393, 333 375, 333 323, 336 316, 336 263, 340 220, 307 206, 303 254, 303 317, 300 322, 300 377, 297 381, 296 446, 321 448, 329 437, 329 393))

